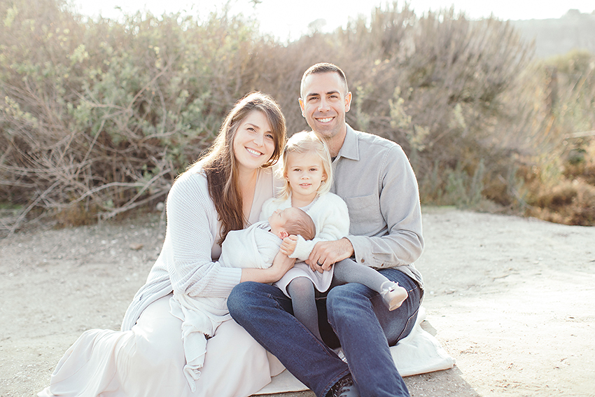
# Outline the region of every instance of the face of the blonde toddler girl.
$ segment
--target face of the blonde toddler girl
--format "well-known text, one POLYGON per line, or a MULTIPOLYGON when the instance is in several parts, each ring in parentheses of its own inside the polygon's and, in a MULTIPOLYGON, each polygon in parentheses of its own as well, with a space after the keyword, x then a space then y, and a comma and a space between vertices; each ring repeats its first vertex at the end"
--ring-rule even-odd
POLYGON ((314 152, 288 153, 285 179, 293 197, 314 200, 322 181, 326 181, 322 159, 314 152))

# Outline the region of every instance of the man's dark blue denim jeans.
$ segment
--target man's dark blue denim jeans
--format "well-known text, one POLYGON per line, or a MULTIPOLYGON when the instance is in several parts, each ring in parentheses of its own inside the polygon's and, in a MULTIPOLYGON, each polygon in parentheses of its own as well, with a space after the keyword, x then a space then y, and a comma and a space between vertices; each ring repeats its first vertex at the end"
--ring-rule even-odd
POLYGON ((275 286, 251 281, 238 284, 228 308, 233 319, 316 396, 325 396, 349 372, 362 397, 409 396, 388 346, 412 330, 422 291, 399 270, 380 272, 407 289, 409 298, 389 312, 380 295, 362 284, 335 286, 326 299, 317 300, 325 343, 295 319, 291 300, 275 286), (337 337, 349 367, 330 349, 337 337))

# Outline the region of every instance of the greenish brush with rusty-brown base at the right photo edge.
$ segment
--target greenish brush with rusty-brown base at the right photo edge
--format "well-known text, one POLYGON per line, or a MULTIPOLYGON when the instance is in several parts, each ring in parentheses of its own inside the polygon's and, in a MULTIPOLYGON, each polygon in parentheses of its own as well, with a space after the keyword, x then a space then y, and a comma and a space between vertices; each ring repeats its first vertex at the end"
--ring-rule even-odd
POLYGON ((532 169, 520 175, 527 214, 595 225, 595 55, 573 51, 535 62, 532 70, 534 90, 540 88, 533 104, 539 117, 533 120, 541 127, 525 145, 531 150, 519 158, 532 169))

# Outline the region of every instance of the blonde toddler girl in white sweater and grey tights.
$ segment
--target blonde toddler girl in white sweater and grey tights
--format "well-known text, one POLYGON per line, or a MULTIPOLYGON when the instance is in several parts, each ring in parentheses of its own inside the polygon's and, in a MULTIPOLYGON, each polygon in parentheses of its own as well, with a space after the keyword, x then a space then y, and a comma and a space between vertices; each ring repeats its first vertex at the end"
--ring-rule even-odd
POLYGON ((389 310, 399 307, 407 298, 405 288, 372 267, 345 261, 321 273, 303 262, 316 242, 341 239, 349 233, 347 206, 341 197, 329 192, 332 166, 328 148, 323 141, 314 132, 294 134, 283 151, 281 172, 286 181, 281 195, 263 204, 260 219, 268 218, 277 209, 298 207, 306 211, 316 225, 314 239, 305 240, 299 235, 297 239, 293 237, 295 249, 290 258, 296 258, 298 262, 276 282, 276 286, 291 298, 294 316, 321 340, 314 288, 325 292, 331 281, 335 284, 364 284, 381 294, 389 310))

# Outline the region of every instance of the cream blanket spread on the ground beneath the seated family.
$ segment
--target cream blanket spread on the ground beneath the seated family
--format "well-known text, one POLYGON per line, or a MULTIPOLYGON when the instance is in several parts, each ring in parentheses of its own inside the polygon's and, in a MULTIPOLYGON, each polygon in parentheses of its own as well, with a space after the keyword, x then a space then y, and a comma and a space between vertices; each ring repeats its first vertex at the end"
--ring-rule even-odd
MULTIPOLYGON (((393 360, 402 377, 447 370, 455 364, 454 358, 444 351, 440 342, 421 328, 421 322, 425 318, 426 309, 420 307, 411 333, 391 347, 393 360)), ((271 383, 260 389, 256 394, 302 390, 308 390, 308 388, 291 375, 288 370, 284 370, 273 377, 271 383)))

